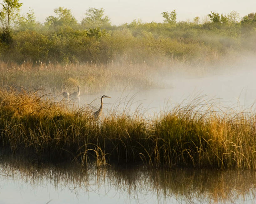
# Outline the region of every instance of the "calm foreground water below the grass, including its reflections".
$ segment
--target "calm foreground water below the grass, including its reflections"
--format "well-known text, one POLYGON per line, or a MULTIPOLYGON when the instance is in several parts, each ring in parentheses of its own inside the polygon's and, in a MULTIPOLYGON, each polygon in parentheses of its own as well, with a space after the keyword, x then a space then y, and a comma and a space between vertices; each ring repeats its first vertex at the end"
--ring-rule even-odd
POLYGON ((256 203, 249 170, 1 161, 0 203, 256 203))

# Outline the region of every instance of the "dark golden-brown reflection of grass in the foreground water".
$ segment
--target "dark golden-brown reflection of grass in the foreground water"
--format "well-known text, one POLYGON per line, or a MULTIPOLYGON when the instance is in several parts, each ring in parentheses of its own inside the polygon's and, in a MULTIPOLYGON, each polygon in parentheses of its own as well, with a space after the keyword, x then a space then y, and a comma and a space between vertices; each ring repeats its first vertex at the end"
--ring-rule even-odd
POLYGON ((83 191, 98 193, 100 189, 110 193, 108 197, 113 197, 111 193, 114 193, 138 201, 155 195, 158 203, 173 201, 173 198, 186 203, 237 203, 256 198, 255 173, 248 170, 166 170, 119 165, 113 168, 38 167, 12 159, 2 162, 0 174, 4 179, 19 181, 19 185, 29 183, 33 189, 42 185, 49 188, 49 184, 57 193, 68 189, 78 199, 83 191))

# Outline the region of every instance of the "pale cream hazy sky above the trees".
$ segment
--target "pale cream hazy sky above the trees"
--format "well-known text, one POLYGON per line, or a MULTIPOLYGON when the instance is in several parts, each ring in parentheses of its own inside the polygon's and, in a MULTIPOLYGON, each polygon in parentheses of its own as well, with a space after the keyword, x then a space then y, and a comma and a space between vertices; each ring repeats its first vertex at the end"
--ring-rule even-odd
POLYGON ((23 3, 21 13, 26 14, 29 7, 34 9, 37 21, 54 15, 53 10, 59 6, 71 10, 80 22, 89 7, 103 8, 113 25, 130 23, 134 19, 143 22, 163 22, 161 13, 176 9, 177 21, 200 19, 211 11, 228 14, 237 11, 240 17, 256 12, 256 0, 20 0, 23 3))

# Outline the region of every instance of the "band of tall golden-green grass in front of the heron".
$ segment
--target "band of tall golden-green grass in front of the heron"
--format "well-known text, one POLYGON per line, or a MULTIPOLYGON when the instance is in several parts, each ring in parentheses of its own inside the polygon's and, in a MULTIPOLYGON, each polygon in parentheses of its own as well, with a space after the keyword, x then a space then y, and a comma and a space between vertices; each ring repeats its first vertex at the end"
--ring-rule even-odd
POLYGON ((69 109, 35 92, 1 90, 0 102, 3 154, 23 153, 38 162, 96 160, 98 166, 256 169, 253 112, 218 113, 200 97, 153 120, 114 110, 97 123, 90 107, 69 109))

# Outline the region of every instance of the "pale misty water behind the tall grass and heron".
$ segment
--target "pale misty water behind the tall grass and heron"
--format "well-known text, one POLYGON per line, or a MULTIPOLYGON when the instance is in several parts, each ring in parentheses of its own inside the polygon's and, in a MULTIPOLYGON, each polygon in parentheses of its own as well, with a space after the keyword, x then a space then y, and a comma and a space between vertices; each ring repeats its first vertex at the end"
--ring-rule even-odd
POLYGON ((214 107, 223 108, 254 108, 256 99, 256 69, 226 69, 217 74, 203 77, 189 74, 162 77, 166 88, 111 91, 92 95, 81 94, 81 105, 92 104, 100 106, 100 96, 103 99, 104 112, 107 110, 126 110, 133 113, 141 111, 145 116, 168 111, 177 104, 186 104, 197 97, 205 103, 211 101, 214 107))

